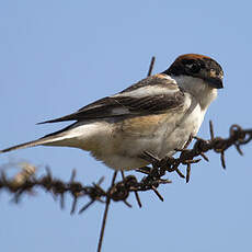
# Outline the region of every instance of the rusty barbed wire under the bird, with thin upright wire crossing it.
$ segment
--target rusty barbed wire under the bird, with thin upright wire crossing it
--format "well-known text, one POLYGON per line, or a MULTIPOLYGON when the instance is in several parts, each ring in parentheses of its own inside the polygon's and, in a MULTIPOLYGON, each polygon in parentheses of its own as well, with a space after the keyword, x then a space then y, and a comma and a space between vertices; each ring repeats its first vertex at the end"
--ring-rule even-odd
MULTIPOLYGON (((154 57, 151 59, 148 76, 151 75, 154 64, 154 57)), ((226 169, 225 152, 234 147, 239 154, 243 154, 241 146, 249 144, 252 140, 252 128, 243 129, 241 126, 233 124, 229 128, 229 136, 227 138, 215 137, 213 123, 209 123, 210 138, 208 140, 191 137, 184 149, 177 149, 179 157, 165 157, 159 159, 151 152, 142 153, 144 159, 151 163, 151 167, 145 167, 137 171, 144 173, 141 179, 130 174, 125 176, 122 171, 122 180, 116 182, 117 171, 114 172, 114 176, 108 188, 102 187, 104 177, 101 177, 96 183, 91 185, 83 185, 76 180, 76 170, 72 171, 69 181, 62 181, 55 179, 50 169, 46 169, 46 174, 37 176, 36 168, 30 163, 22 164, 22 171, 15 176, 9 177, 4 171, 1 171, 0 175, 0 192, 7 191, 13 195, 15 203, 20 202, 20 198, 25 194, 31 194, 35 188, 42 188, 47 193, 50 193, 54 197, 60 199, 60 206, 64 208, 65 198, 67 194, 72 197, 71 214, 76 213, 77 203, 82 197, 89 197, 88 204, 79 209, 79 214, 87 210, 95 202, 104 203, 105 210, 103 215, 102 228, 99 238, 98 251, 101 251, 103 234, 106 224, 106 217, 108 206, 111 202, 123 202, 126 206, 131 207, 127 202, 130 193, 134 193, 138 206, 141 207, 139 192, 152 191, 160 201, 163 201, 162 195, 159 193, 158 187, 162 184, 171 183, 170 180, 164 179, 168 173, 175 172, 180 177, 184 179, 186 183, 190 182, 192 164, 197 163, 202 158, 209 161, 206 152, 214 150, 220 154, 221 165, 226 169), (192 149, 187 149, 191 141, 195 141, 192 149), (186 167, 185 174, 181 171, 182 167, 186 167)))

